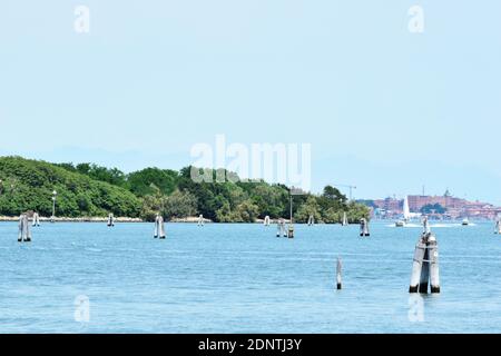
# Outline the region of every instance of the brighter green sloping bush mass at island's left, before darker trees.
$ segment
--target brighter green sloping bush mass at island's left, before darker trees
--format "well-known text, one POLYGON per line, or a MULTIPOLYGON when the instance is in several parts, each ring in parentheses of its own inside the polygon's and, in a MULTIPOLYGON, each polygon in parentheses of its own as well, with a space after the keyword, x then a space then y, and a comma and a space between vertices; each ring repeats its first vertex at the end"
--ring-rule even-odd
POLYGON ((42 161, 0 157, 0 179, 1 215, 35 210, 51 216, 53 190, 59 216, 140 214, 140 199, 127 189, 42 161))

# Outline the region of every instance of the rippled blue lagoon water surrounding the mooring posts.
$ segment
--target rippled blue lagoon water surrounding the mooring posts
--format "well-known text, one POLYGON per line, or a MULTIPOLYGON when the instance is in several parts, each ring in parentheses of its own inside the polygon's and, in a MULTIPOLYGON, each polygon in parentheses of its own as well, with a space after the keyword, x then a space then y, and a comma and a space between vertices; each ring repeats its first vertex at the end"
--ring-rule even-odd
POLYGON ((151 224, 61 222, 19 244, 17 224, 0 222, 0 333, 501 333, 492 224, 433 229, 442 293, 418 304, 420 228, 371 227, 362 239, 357 226, 297 225, 287 239, 258 224, 167 224, 157 240, 151 224))

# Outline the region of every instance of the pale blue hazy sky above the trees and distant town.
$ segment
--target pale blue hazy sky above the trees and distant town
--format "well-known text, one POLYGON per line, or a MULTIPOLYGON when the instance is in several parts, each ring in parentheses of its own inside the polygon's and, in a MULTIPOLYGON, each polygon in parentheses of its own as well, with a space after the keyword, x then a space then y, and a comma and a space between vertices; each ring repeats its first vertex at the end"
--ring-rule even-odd
POLYGON ((178 169, 225 135, 311 144, 314 191, 424 186, 501 205, 500 13, 497 0, 2 0, 0 155, 178 169))

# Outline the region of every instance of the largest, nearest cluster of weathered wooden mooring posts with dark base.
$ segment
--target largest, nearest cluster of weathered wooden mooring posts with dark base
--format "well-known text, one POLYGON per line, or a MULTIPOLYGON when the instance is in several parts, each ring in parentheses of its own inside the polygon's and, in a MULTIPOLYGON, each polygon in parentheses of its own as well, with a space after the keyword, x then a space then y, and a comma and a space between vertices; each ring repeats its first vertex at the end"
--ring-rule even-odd
POLYGON ((439 245, 435 236, 431 233, 428 218, 423 220, 423 228, 415 245, 409 293, 426 294, 430 284, 431 293, 438 294, 440 293, 439 245))

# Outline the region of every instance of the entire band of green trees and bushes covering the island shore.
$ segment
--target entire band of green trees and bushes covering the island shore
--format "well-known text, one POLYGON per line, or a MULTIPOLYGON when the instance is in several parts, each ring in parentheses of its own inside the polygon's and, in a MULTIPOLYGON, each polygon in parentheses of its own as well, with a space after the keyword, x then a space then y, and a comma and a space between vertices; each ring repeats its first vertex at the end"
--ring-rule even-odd
MULTIPOLYGON (((224 170, 204 170, 233 175, 224 170)), ((129 175, 117 168, 91 164, 48 164, 19 157, 0 157, 0 215, 16 216, 37 210, 50 216, 52 190, 58 191, 59 216, 116 216, 154 219, 158 211, 168 218, 203 214, 214 221, 254 221, 268 215, 288 217, 289 190, 283 185, 259 182, 195 182, 191 167, 180 171, 146 168, 129 175)), ((215 180, 214 180, 215 181, 215 180)), ((369 209, 348 202, 336 188, 322 195, 293 196, 293 214, 303 222, 340 222, 346 211, 351 221, 369 218, 369 209)))

